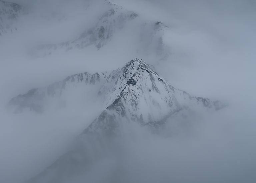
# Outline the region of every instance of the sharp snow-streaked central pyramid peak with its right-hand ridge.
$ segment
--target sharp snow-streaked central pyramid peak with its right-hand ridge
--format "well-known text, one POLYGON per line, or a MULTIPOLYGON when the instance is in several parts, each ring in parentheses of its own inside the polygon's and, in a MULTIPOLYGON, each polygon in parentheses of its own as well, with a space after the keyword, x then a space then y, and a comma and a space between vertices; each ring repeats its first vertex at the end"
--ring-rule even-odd
POLYGON ((113 71, 99 93, 106 98, 105 111, 84 131, 113 132, 123 120, 159 126, 175 115, 188 115, 195 108, 219 110, 219 101, 194 97, 168 84, 141 59, 133 59, 125 67, 113 71), (123 120, 122 120, 123 118, 123 120), (113 123, 115 121, 115 123, 113 123))

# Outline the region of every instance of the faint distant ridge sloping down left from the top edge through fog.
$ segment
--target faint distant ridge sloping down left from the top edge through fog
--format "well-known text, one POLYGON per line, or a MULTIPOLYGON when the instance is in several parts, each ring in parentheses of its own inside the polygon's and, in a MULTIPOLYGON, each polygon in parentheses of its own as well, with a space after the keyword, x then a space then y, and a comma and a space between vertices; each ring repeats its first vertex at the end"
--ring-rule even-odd
POLYGON ((121 10, 123 7, 110 2, 104 3, 104 6, 110 8, 99 18, 97 24, 81 33, 73 40, 58 44, 41 45, 37 50, 33 50, 35 57, 50 55, 58 48, 64 48, 66 51, 73 48, 82 49, 89 45, 95 45, 98 49, 107 44, 113 36, 114 29, 121 28, 126 21, 136 18, 138 15, 132 11, 121 10))

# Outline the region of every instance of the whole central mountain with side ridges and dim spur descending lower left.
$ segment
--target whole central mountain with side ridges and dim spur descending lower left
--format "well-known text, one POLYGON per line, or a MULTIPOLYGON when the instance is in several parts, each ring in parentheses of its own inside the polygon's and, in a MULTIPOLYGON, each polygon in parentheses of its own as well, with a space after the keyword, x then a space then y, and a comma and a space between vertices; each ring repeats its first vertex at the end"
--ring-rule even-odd
POLYGON ((103 102, 103 112, 78 136, 73 151, 61 156, 29 180, 30 183, 69 182, 74 177, 87 175, 93 162, 121 148, 116 141, 126 133, 127 125, 158 129, 172 119, 186 118, 198 108, 223 107, 218 101, 194 97, 174 88, 137 58, 110 73, 80 73, 46 88, 32 89, 13 98, 9 107, 16 112, 25 108, 43 112, 49 101, 65 103, 64 93, 68 91, 72 95, 72 88, 97 93, 103 102))

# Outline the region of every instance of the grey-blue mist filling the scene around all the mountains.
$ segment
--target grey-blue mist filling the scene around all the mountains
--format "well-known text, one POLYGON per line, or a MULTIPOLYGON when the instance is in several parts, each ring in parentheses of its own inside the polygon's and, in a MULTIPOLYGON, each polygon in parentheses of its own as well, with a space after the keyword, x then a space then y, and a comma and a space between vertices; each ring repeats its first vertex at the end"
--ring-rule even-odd
POLYGON ((103 110, 96 97, 70 96, 70 105, 62 109, 13 114, 6 109, 13 97, 72 74, 112 71, 139 57, 174 87, 229 105, 184 120, 170 119, 157 132, 128 124, 117 147, 103 148, 105 155, 66 182, 254 183, 255 3, 114 2, 135 11, 138 20, 128 22, 99 50, 92 45, 43 58, 31 58, 28 50, 79 36, 105 9, 86 12, 87 5, 96 7, 92 1, 16 2, 34 7, 34 16, 24 15, 18 31, 0 36, 0 182, 21 183, 38 175, 76 147, 76 137, 103 110), (47 12, 57 13, 47 20, 47 12), (167 59, 137 51, 143 50, 137 25, 144 20, 169 28, 163 38, 170 49, 167 59))

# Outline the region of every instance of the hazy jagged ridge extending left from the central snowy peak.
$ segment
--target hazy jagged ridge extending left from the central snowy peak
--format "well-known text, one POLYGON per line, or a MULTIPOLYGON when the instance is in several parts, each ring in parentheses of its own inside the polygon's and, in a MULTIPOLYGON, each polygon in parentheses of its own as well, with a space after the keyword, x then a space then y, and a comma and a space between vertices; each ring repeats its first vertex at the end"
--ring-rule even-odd
MULTIPOLYGON (((14 97, 9 102, 8 108, 14 110, 14 113, 20 113, 27 109, 42 113, 66 107, 67 99, 75 94, 75 90, 80 90, 83 95, 93 97, 104 82, 106 74, 107 72, 95 74, 85 72, 68 76, 63 81, 55 82, 44 88, 34 88, 24 95, 14 97)), ((83 96, 80 97, 83 98, 83 96)))

